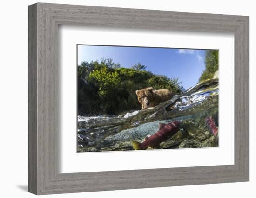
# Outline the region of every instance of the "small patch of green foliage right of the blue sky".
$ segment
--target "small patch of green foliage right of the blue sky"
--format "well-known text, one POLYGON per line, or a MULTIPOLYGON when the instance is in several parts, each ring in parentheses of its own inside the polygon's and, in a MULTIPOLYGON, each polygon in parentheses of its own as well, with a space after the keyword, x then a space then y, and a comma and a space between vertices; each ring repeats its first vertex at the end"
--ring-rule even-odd
POLYGON ((202 72, 199 82, 213 78, 214 73, 219 70, 219 51, 207 50, 205 53, 205 70, 202 72))

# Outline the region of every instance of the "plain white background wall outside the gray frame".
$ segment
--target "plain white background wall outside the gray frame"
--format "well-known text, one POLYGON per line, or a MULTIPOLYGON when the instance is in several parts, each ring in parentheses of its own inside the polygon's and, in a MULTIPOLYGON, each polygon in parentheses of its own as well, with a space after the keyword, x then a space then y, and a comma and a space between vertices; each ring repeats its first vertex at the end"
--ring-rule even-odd
MULTIPOLYGON (((1 1, 0 7, 0 196, 29 198, 27 192, 27 6, 34 0, 1 1)), ((250 16, 250 182, 192 185, 108 192, 51 195, 51 197, 134 198, 255 198, 256 130, 256 12, 253 0, 44 0, 49 3, 250 16)))

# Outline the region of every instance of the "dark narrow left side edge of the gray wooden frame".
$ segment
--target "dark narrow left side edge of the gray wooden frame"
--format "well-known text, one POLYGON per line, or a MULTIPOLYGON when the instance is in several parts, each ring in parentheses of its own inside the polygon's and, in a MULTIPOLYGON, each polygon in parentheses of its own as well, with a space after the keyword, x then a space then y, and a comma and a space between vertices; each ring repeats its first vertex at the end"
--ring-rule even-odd
POLYGON ((28 191, 37 193, 37 6, 28 9, 28 191))

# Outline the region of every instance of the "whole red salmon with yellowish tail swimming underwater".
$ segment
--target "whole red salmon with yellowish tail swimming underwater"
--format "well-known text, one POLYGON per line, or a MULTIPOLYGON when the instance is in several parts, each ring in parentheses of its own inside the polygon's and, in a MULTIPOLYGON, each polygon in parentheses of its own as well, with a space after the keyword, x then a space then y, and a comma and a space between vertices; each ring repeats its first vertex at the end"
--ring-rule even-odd
POLYGON ((168 140, 176 134, 181 127, 180 121, 172 121, 169 124, 159 123, 159 130, 146 137, 143 142, 132 141, 134 150, 144 150, 148 147, 157 147, 162 141, 168 140))

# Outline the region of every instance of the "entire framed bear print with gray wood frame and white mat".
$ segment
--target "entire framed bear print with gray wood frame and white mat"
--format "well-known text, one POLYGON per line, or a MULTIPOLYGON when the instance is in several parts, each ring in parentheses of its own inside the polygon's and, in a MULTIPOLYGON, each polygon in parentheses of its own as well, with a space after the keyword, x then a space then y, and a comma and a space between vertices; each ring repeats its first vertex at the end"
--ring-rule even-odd
POLYGON ((249 17, 28 8, 29 192, 249 181, 249 17))

